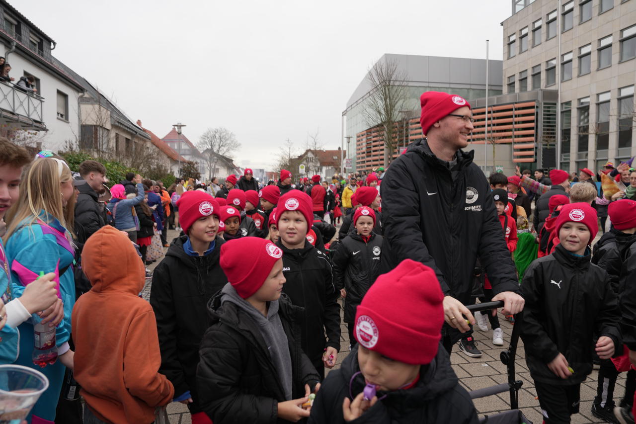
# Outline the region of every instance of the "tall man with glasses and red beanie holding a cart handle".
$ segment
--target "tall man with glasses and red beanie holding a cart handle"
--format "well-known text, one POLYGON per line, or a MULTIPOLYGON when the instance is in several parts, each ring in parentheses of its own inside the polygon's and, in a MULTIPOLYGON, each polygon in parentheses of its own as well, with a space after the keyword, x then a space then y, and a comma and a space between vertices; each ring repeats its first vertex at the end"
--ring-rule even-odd
POLYGON ((490 186, 473 164, 468 146, 473 131, 470 104, 461 96, 429 91, 420 97, 420 124, 425 138, 411 144, 392 162, 382 180, 382 225, 385 242, 382 272, 406 258, 434 269, 444 292, 442 343, 480 357, 474 346, 471 302, 477 258, 503 313, 523 309, 515 265, 506 248, 490 186), (464 318, 464 316, 466 318, 464 318))

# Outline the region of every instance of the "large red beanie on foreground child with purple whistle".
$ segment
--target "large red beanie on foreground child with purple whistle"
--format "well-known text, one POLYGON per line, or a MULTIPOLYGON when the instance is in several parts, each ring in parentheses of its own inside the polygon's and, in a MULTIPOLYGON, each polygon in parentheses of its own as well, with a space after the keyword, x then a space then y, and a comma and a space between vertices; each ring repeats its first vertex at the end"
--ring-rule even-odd
POLYGON ((356 340, 399 362, 430 364, 441 339, 443 299, 435 271, 405 259, 364 295, 356 311, 356 340))

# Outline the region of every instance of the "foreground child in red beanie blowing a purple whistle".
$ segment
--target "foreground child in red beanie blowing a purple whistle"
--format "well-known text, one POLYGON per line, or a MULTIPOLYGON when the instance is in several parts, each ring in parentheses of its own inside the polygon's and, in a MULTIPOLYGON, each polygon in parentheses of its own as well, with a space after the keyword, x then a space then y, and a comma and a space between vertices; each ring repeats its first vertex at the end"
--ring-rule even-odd
POLYGON ((419 262, 406 259, 381 275, 357 307, 358 344, 322 383, 309 422, 476 424, 473 402, 439 349, 443 297, 435 272, 419 262))

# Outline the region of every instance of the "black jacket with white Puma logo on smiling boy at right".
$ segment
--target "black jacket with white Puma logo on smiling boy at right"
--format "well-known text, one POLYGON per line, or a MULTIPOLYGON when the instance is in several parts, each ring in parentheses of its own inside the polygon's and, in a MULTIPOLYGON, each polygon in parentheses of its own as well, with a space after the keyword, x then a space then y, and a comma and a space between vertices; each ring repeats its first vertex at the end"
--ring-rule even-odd
POLYGON ((621 351, 618 299, 609 275, 557 244, 555 251, 532 262, 523 274, 521 337, 530 376, 542 383, 574 385, 592 371, 594 336, 611 337, 621 351), (562 353, 574 374, 562 379, 548 363, 562 353))

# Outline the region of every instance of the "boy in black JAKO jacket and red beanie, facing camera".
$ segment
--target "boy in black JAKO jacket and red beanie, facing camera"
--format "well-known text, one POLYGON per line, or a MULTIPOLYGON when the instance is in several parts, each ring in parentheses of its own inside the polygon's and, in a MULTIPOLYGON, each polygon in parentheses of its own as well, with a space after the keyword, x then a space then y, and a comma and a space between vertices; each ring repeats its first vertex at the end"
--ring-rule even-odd
POLYGON ((305 308, 300 321, 303 351, 324 378, 324 367, 336 365, 340 350, 340 306, 327 256, 305 238, 314 213, 311 198, 289 190, 276 207, 279 241, 283 251, 283 291, 296 306, 305 308), (325 339, 324 334, 327 334, 325 339))

